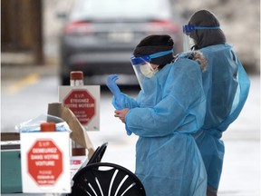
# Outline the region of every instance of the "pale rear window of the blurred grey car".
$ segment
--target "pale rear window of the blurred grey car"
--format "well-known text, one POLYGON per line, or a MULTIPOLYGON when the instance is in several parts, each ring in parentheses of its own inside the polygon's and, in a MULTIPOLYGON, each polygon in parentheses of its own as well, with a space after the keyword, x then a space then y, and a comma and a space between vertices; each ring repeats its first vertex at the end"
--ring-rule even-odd
POLYGON ((169 0, 78 0, 70 19, 167 19, 170 16, 169 0))

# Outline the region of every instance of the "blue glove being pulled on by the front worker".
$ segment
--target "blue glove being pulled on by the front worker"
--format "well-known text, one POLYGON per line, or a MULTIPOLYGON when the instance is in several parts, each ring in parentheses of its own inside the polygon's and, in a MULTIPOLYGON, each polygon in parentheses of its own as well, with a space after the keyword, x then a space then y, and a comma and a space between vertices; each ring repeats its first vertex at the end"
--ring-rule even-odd
MULTIPOLYGON (((107 83, 106 85, 108 86, 108 88, 110 89, 111 93, 114 95, 115 97, 115 101, 117 105, 113 106, 115 107, 116 110, 122 110, 125 108, 125 103, 124 103, 124 97, 121 94, 121 90, 119 88, 119 86, 116 83, 116 80, 118 80, 119 77, 117 74, 111 74, 108 76, 107 78, 107 83)), ((128 135, 131 135, 131 131, 127 128, 127 126, 125 125, 125 129, 127 131, 128 135)))

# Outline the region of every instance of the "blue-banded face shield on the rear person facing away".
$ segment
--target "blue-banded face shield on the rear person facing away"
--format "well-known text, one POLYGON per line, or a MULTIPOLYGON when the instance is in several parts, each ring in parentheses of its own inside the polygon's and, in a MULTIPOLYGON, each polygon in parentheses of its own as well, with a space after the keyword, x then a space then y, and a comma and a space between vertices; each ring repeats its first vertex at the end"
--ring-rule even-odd
POLYGON ((195 29, 220 29, 219 26, 194 26, 183 25, 183 52, 188 52, 191 48, 197 44, 196 41, 190 37, 191 32, 195 29))

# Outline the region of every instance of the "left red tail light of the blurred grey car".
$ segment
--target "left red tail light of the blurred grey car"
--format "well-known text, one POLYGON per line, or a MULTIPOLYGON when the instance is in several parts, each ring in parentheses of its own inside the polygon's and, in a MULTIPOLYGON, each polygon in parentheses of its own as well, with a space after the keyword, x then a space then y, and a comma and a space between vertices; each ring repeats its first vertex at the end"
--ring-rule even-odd
POLYGON ((92 34, 93 29, 90 23, 77 21, 65 25, 63 32, 65 34, 92 34))

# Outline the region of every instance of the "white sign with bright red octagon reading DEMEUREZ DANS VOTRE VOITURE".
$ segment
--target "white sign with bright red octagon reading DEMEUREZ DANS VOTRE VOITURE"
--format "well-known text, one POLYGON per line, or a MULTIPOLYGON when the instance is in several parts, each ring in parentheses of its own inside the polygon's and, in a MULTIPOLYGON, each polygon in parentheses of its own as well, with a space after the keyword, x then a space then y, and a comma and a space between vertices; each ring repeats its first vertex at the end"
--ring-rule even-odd
POLYGON ((71 192, 70 132, 21 132, 23 192, 71 192))

